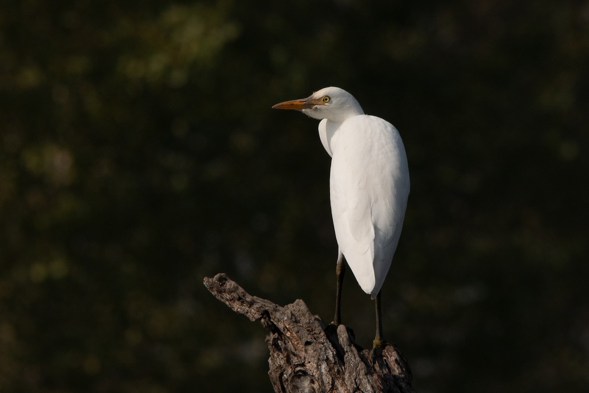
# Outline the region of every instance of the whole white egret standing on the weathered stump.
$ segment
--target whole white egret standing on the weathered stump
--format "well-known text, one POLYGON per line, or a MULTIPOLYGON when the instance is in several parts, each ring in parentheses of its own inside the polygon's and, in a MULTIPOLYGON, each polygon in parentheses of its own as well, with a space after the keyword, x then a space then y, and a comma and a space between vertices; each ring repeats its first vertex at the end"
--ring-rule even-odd
POLYGON ((326 87, 273 108, 299 110, 320 119, 319 138, 332 157, 329 188, 339 246, 333 323, 339 325, 341 320, 345 260, 360 287, 375 299, 373 346, 386 345, 380 288, 399 243, 409 196, 409 169, 401 136, 388 121, 364 114, 352 94, 339 87, 326 87))

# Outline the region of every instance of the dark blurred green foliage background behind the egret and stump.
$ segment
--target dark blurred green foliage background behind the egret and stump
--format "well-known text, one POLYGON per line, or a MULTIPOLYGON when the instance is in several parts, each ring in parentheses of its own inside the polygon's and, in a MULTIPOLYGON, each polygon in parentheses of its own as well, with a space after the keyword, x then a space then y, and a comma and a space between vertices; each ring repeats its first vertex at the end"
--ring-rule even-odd
POLYGON ((329 157, 270 110, 327 85, 408 151, 383 309, 415 388, 589 390, 587 2, 1 8, 0 391, 272 391, 202 280, 330 321, 329 157))

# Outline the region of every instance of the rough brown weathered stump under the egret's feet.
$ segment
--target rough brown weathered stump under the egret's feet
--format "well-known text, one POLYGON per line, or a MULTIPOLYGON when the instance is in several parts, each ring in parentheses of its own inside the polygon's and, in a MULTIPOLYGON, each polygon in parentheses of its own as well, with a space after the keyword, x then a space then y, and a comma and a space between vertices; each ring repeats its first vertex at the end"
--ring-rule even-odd
POLYGON ((276 392, 413 392, 409 364, 394 345, 362 349, 351 329, 326 325, 303 300, 284 307, 252 296, 224 273, 204 285, 233 311, 260 321, 276 392))

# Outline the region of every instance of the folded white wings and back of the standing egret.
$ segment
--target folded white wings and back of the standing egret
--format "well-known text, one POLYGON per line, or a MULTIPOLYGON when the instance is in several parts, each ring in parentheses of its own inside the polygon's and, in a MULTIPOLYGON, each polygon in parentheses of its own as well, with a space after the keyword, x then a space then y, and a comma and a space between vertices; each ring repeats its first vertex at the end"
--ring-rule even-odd
POLYGON ((344 121, 330 144, 330 196, 337 244, 360 287, 375 298, 395 254, 409 196, 403 142, 370 115, 344 121))

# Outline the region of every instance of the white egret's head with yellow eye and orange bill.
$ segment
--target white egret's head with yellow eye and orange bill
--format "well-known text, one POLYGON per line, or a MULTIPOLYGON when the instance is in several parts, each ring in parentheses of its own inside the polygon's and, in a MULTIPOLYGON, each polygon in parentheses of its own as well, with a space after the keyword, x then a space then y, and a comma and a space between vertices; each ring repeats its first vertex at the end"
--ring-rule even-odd
POLYGON ((276 109, 294 109, 309 117, 340 123, 348 117, 362 115, 364 111, 356 98, 339 87, 325 87, 302 100, 284 101, 276 109))

